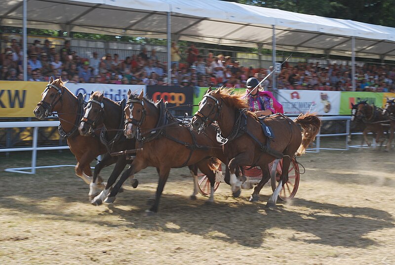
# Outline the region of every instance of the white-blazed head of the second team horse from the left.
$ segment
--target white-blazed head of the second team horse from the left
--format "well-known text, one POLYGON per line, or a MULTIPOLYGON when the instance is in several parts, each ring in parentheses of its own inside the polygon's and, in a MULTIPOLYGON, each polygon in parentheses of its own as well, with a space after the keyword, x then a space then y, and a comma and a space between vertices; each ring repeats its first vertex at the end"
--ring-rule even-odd
POLYGON ((104 92, 92 92, 90 94, 88 103, 84 108, 84 115, 79 124, 79 134, 85 136, 92 133, 98 124, 103 123, 102 112, 104 110, 103 103, 104 92))

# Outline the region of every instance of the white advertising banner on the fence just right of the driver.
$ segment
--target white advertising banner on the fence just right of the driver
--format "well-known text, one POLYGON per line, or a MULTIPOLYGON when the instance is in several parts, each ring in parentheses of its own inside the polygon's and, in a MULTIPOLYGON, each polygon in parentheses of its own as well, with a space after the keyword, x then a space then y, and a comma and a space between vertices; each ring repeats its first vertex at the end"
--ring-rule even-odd
POLYGON ((285 114, 316 112, 339 115, 340 91, 278 90, 277 99, 285 114))

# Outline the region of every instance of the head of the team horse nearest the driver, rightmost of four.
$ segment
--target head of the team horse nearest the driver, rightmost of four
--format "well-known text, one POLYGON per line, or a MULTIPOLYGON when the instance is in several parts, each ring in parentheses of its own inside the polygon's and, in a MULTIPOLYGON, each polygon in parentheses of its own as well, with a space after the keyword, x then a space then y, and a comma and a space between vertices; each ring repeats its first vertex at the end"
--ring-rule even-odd
POLYGON ((218 91, 219 89, 208 88, 203 99, 199 102, 199 109, 191 120, 192 129, 195 131, 200 133, 205 127, 218 119, 222 107, 222 98, 218 91))

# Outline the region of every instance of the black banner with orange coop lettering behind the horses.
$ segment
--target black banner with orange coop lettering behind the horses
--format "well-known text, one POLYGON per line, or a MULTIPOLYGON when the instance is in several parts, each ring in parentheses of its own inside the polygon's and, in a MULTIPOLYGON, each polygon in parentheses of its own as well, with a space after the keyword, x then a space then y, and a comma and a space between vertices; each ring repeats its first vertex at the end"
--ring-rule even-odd
POLYGON ((193 89, 192 87, 173 87, 173 86, 147 86, 146 95, 153 101, 162 99, 167 101, 167 108, 175 111, 175 115, 188 115, 192 113, 193 103, 193 89), (187 106, 188 105, 188 106, 187 106))

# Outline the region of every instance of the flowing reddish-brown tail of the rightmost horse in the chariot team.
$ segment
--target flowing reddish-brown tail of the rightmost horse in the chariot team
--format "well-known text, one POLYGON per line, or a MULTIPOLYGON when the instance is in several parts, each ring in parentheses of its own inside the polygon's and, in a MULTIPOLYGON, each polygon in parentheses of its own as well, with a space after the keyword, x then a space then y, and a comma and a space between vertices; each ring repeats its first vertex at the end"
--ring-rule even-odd
POLYGON ((297 156, 306 153, 307 147, 314 141, 321 127, 321 120, 315 113, 300 114, 294 121, 300 125, 302 131, 302 143, 296 151, 297 156))

